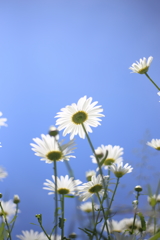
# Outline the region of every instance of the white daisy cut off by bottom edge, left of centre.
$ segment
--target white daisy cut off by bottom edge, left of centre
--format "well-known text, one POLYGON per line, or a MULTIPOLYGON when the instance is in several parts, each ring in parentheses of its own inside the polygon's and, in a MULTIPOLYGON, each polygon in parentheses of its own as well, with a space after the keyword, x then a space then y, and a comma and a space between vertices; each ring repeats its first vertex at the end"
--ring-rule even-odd
MULTIPOLYGON (((30 231, 22 231, 23 235, 16 235, 17 238, 21 240, 47 240, 48 238, 44 234, 44 232, 34 232, 33 230, 30 231)), ((56 238, 59 240, 59 238, 56 238)))

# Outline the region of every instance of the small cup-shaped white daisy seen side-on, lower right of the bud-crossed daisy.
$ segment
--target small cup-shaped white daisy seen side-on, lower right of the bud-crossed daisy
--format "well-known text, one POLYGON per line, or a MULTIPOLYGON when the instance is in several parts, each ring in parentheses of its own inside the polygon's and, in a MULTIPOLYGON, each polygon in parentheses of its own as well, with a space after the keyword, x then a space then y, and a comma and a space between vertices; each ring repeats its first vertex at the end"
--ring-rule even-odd
POLYGON ((132 172, 133 168, 131 166, 129 166, 128 163, 126 163, 123 166, 123 162, 120 163, 113 163, 109 169, 114 173, 114 175, 117 178, 121 178, 123 175, 125 175, 126 173, 130 173, 132 172))

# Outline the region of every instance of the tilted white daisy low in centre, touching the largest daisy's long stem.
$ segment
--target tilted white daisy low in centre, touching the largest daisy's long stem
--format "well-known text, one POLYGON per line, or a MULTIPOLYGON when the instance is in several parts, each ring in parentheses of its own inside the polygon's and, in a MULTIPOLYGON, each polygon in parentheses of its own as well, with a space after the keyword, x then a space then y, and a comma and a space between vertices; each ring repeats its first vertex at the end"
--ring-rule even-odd
MULTIPOLYGON (((108 176, 104 177, 104 181, 108 184, 108 176)), ((110 191, 110 189, 107 189, 110 191)), ((91 181, 83 183, 82 186, 78 187, 78 194, 81 201, 86 201, 88 198, 92 197, 93 194, 104 194, 104 188, 102 183, 101 175, 97 177, 94 175, 91 178, 91 181)))

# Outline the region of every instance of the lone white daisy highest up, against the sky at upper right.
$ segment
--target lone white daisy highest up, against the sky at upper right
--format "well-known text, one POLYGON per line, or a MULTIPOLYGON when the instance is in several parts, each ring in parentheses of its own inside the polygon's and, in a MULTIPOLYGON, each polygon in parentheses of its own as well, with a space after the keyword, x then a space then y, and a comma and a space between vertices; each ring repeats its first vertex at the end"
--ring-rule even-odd
POLYGON ((140 59, 139 62, 136 61, 136 63, 133 63, 129 69, 131 69, 133 73, 144 74, 148 72, 152 60, 153 57, 149 57, 148 60, 146 60, 146 58, 144 57, 143 59, 140 59))

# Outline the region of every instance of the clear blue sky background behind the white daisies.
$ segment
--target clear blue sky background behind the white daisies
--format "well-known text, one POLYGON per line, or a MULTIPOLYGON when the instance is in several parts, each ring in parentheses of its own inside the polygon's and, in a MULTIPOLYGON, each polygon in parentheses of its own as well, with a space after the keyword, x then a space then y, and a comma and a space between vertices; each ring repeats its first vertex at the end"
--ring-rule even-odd
MULTIPOLYGON (((153 56, 149 75, 160 86, 159 7, 158 0, 0 3, 0 111, 8 119, 8 127, 0 129, 0 165, 9 174, 1 192, 6 199, 14 194, 21 198, 15 235, 31 228, 40 231, 30 225, 36 223, 37 213, 43 213, 45 226, 52 226, 52 197, 42 190, 52 166, 34 155, 30 143, 48 132, 62 107, 85 95, 98 101, 105 114, 90 135, 95 148, 119 145, 124 162, 135 168, 122 179, 115 204, 140 183, 140 172, 148 177, 140 184, 156 185, 159 154, 149 147, 144 150, 141 140, 160 138, 160 99, 144 75, 131 74, 128 68, 153 56), (147 166, 138 168, 145 155, 147 166)), ((85 182, 85 172, 96 166, 87 140, 76 137, 76 143, 76 159, 70 164, 76 178, 85 182)), ((64 163, 58 164, 58 174, 67 174, 64 163)), ((75 211, 71 206, 67 200, 68 222, 75 211)))

